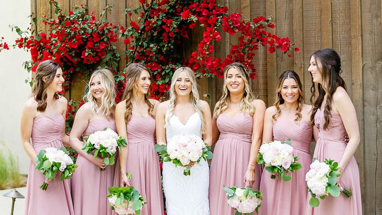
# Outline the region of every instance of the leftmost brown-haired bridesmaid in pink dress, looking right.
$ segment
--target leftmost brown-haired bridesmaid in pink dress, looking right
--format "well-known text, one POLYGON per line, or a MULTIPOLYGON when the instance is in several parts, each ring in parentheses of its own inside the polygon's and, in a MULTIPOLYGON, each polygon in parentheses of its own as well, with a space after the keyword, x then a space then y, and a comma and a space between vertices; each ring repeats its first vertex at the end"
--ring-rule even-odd
POLYGON ((35 169, 35 158, 40 150, 47 147, 60 148, 69 142, 65 135, 65 114, 68 101, 58 92, 63 90, 64 77, 60 65, 46 60, 36 69, 32 97, 25 102, 21 114, 21 144, 31 158, 24 214, 72 215, 69 180, 59 181, 56 176, 43 191, 40 185, 45 177, 35 169), (32 138, 32 143, 31 143, 32 138))

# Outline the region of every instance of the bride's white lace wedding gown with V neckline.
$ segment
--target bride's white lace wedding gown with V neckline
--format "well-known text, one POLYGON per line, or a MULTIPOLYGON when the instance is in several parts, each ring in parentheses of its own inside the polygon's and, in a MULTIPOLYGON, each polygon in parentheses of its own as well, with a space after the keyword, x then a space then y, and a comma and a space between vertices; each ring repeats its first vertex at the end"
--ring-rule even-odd
MULTIPOLYGON (((169 111, 166 113, 166 120, 169 111)), ((198 113, 191 115, 185 125, 172 115, 166 127, 167 142, 175 135, 201 134, 201 119, 198 113)), ((209 215, 208 185, 209 168, 204 159, 195 164, 190 175, 183 175, 183 167, 172 162, 163 162, 163 190, 166 196, 168 215, 209 215)))

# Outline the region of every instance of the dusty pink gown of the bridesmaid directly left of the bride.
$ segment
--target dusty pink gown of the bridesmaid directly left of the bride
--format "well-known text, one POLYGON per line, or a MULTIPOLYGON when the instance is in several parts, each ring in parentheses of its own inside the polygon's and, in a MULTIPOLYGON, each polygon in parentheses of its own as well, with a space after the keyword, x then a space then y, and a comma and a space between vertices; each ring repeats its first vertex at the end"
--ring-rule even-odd
MULTIPOLYGON (((126 171, 131 173, 131 185, 145 198, 142 215, 163 214, 160 166, 155 145, 155 120, 148 116, 131 115, 126 124, 128 156, 126 171)), ((119 160, 117 162, 119 164, 119 160)), ((116 167, 114 184, 120 186, 121 171, 116 167)), ((113 212, 116 214, 115 212, 113 212)))

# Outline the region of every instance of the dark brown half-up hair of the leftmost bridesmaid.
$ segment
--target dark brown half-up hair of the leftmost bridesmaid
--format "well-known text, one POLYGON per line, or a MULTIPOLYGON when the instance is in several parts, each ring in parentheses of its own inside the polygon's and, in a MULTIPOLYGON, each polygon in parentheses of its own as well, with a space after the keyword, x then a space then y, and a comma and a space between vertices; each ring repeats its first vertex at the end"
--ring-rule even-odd
MULTIPOLYGON (((41 62, 36 69, 35 83, 32 87, 32 96, 37 101, 37 111, 44 112, 47 106, 46 103, 46 89, 53 82, 56 76, 57 70, 60 69, 60 65, 54 61, 46 60, 41 62), (45 77, 45 82, 43 78, 45 77)), ((54 93, 54 99, 59 99, 58 92, 54 93)))

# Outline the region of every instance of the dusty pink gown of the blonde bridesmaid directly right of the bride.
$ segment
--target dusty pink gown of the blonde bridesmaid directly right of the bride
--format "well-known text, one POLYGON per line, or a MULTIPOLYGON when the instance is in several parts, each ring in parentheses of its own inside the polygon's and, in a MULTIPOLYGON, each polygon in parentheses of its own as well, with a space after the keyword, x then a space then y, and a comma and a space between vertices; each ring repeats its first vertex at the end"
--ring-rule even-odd
MULTIPOLYGON (((216 119, 220 131, 215 144, 210 169, 209 202, 211 214, 234 215, 227 203, 223 185, 244 187, 245 172, 250 160, 253 117, 238 113, 232 117, 220 114, 216 119)), ((256 181, 252 189, 259 190, 260 166, 255 169, 256 181)))

